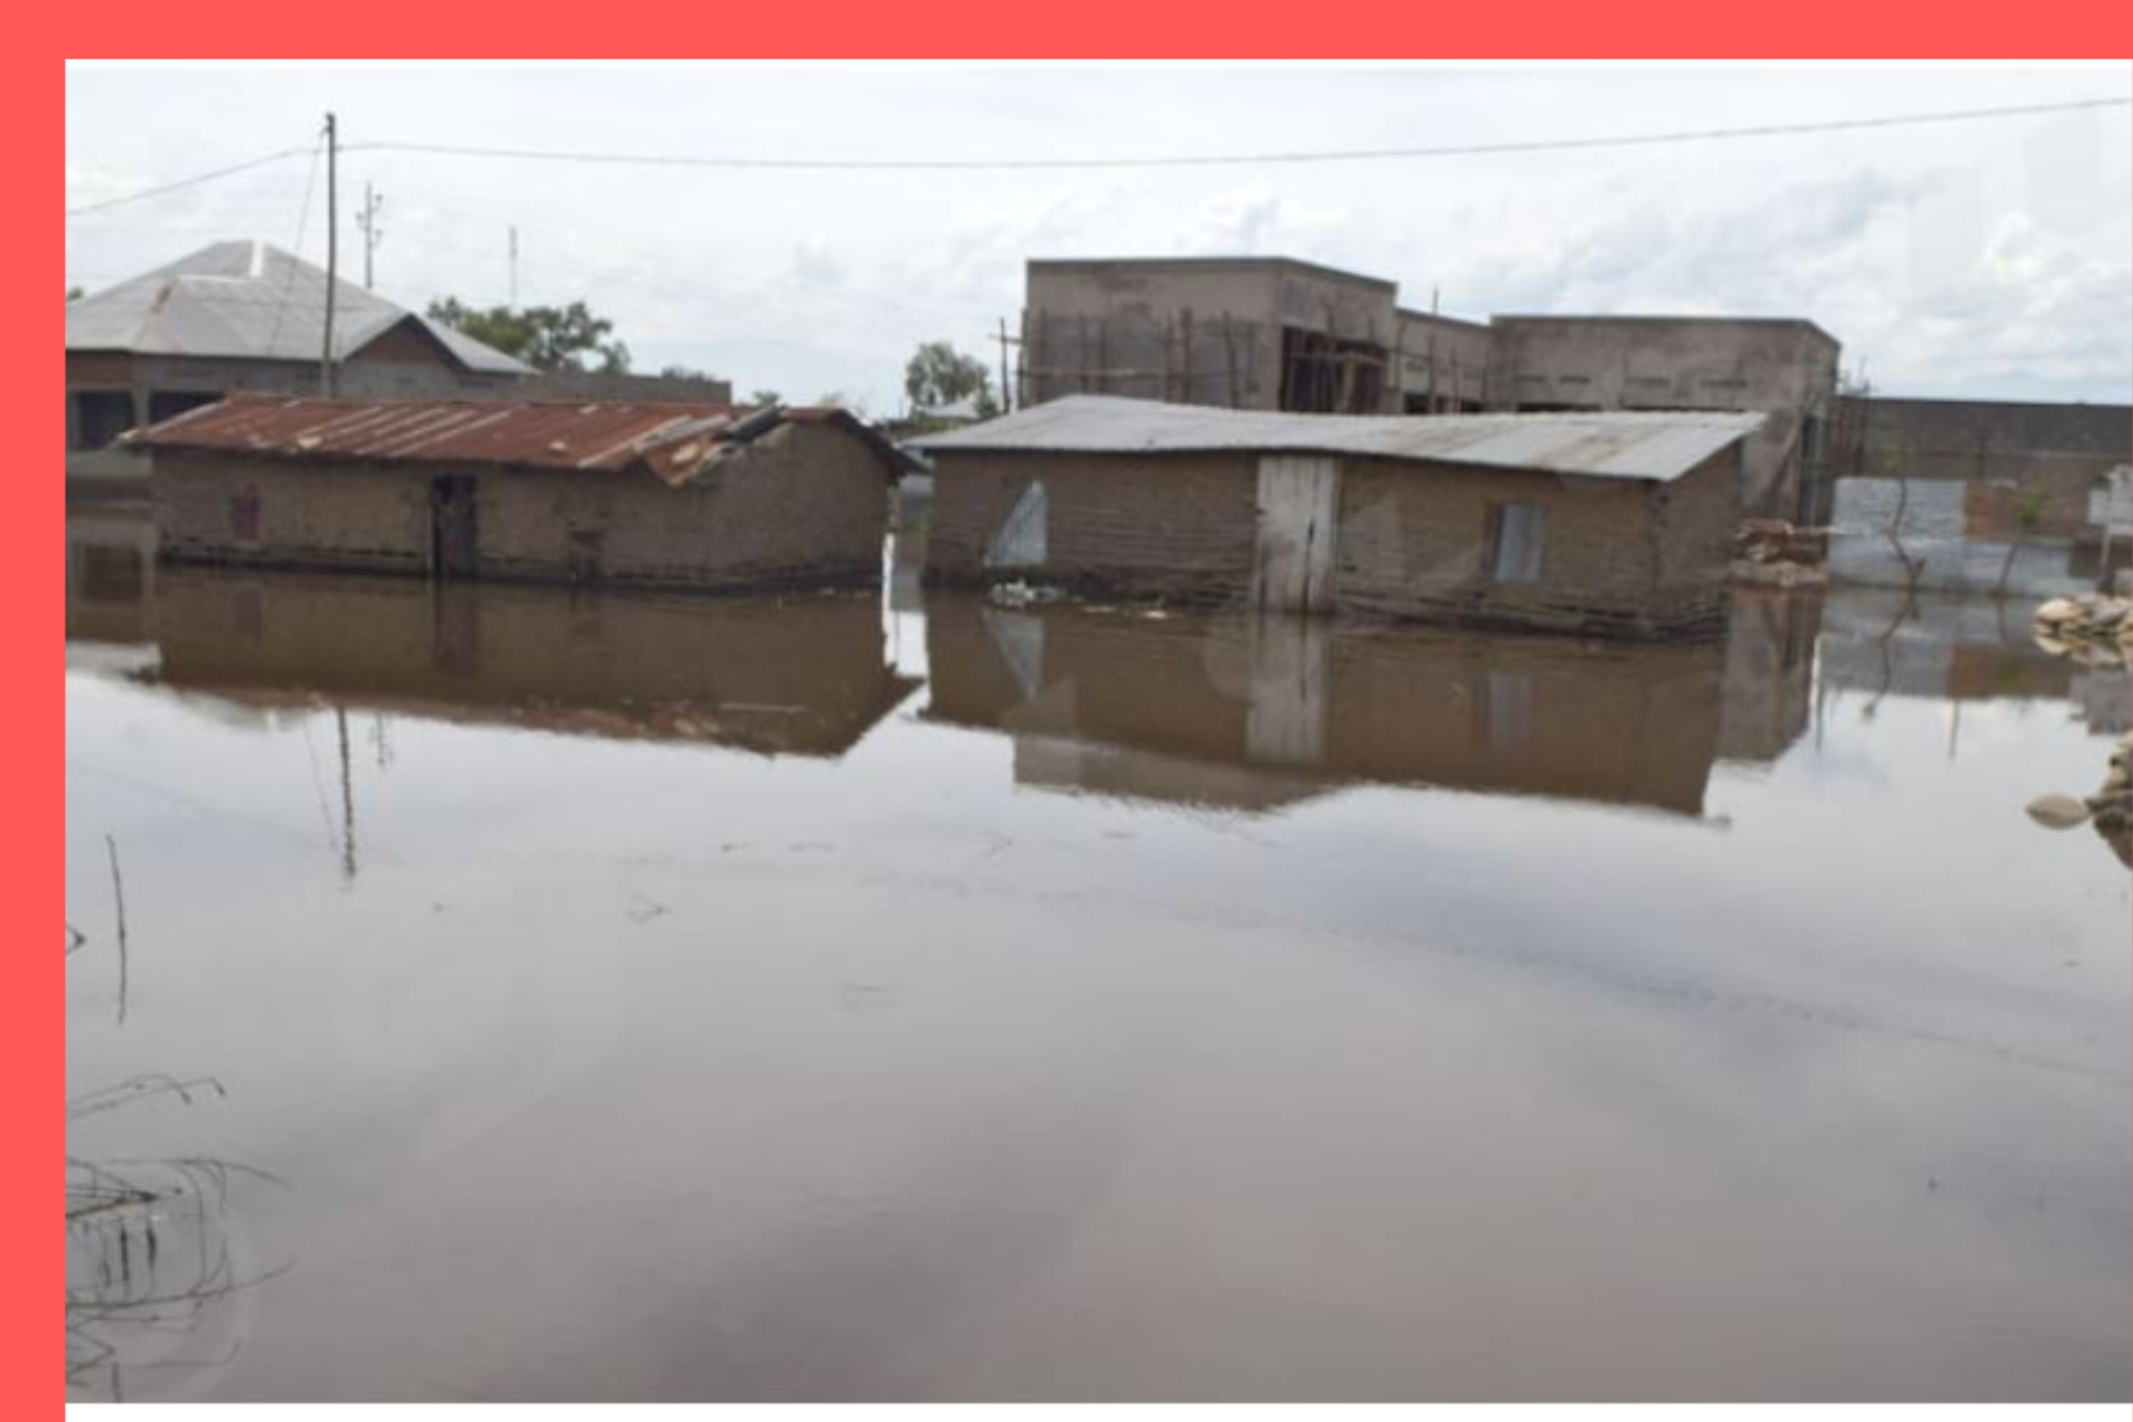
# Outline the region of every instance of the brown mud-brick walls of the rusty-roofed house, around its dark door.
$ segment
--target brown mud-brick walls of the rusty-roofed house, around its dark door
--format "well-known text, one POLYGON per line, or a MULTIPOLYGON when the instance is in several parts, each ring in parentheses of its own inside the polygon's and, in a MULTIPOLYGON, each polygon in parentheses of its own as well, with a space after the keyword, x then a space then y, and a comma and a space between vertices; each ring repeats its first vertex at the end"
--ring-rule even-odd
MULTIPOLYGON (((429 490, 448 467, 294 463, 166 450, 154 497, 173 561, 429 571, 429 490), (258 537, 232 507, 258 499, 258 537)), ((787 424, 668 488, 644 473, 467 469, 482 578, 693 588, 866 586, 881 578, 881 460, 787 424)))

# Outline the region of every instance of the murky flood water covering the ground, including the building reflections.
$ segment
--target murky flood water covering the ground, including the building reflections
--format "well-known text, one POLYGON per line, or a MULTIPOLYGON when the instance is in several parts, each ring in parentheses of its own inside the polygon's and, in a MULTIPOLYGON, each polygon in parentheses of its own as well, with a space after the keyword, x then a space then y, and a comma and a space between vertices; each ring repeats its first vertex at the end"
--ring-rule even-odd
POLYGON ((70 1192, 160 1194, 68 1226, 70 1396, 2133 1390, 2129 872, 2022 812, 2133 706, 2022 605, 1604 648, 68 539, 70 1192))

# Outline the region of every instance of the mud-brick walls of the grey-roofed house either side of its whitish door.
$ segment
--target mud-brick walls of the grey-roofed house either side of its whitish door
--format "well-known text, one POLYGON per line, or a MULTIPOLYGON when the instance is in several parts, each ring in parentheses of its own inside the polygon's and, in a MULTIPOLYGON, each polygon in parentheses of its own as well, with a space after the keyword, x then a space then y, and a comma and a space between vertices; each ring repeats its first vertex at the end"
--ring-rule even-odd
MULTIPOLYGON (((1736 516, 1728 450, 1668 486, 1348 458, 1335 599, 1344 612, 1649 635, 1723 623, 1736 516), (1489 578, 1491 503, 1546 507, 1540 580, 1489 578)), ((1256 546, 1254 454, 939 454, 926 576, 1028 576, 1088 595, 1241 603, 1256 546), (1049 499, 1041 569, 985 569, 1030 480, 1049 499)))

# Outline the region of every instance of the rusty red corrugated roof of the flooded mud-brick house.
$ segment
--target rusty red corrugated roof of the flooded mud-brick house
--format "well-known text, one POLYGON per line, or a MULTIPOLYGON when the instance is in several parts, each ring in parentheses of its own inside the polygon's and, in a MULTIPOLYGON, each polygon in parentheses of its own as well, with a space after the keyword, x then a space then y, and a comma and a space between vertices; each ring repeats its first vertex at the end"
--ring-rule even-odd
POLYGON ((149 450, 296 460, 646 473, 683 484, 781 424, 838 424, 892 471, 896 446, 843 409, 644 401, 326 401, 235 394, 128 437, 149 450))

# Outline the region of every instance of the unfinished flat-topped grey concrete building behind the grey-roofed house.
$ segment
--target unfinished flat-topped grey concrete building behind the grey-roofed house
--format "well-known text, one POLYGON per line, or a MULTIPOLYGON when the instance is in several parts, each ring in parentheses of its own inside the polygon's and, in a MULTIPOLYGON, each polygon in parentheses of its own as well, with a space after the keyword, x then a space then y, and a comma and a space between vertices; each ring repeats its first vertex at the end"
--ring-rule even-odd
POLYGON ((1764 414, 1741 510, 1824 522, 1839 343, 1807 320, 1495 316, 1290 258, 1032 260, 1024 405, 1124 394, 1295 414, 1764 414))

